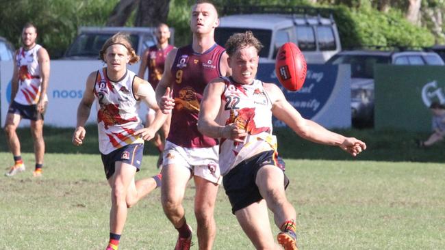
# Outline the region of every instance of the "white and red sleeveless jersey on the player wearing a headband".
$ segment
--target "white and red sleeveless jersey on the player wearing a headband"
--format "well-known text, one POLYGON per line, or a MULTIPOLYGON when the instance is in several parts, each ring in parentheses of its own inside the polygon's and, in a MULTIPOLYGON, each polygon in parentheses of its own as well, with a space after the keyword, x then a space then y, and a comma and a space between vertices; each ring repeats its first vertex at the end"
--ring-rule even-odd
POLYGON ((97 129, 99 130, 99 151, 102 154, 122 148, 131 143, 144 143, 133 135, 143 128, 138 116, 139 102, 133 96, 134 72, 127 70, 118 82, 107 78, 106 68, 98 71, 94 84, 97 100, 97 129))

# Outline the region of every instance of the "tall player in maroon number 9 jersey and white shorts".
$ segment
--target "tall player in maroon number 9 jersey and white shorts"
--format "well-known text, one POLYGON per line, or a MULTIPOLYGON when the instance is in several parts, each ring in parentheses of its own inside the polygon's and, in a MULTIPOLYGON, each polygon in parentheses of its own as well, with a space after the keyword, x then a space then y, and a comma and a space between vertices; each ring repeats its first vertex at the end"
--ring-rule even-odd
POLYGON ((230 72, 227 54, 214 40, 218 25, 214 5, 197 1, 192 6, 190 20, 192 44, 168 54, 164 74, 156 88, 160 108, 164 113, 172 112, 164 150, 161 202, 166 216, 179 232, 175 249, 190 249, 191 245, 192 230, 182 206, 190 178, 196 186, 194 214, 199 249, 212 249, 216 236, 214 206, 221 179, 218 141, 199 133, 196 123, 205 86, 214 77, 230 72))

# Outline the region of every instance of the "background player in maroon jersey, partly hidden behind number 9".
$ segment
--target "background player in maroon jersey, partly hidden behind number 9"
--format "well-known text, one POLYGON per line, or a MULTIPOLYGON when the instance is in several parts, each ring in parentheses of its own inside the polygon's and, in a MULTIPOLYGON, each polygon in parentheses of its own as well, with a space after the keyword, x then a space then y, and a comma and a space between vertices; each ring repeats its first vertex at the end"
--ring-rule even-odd
MULTIPOLYGON (((144 53, 142 53, 142 60, 138 72, 138 77, 144 79, 145 70, 149 70, 149 83, 151 83, 153 89, 156 89, 157 83, 159 83, 162 74, 164 73, 166 56, 173 50, 173 48, 175 48, 175 46, 168 44, 170 30, 165 23, 157 25, 155 36, 157 43, 150 46, 144 53)), ((155 112, 153 109, 148 109, 145 126, 148 127, 153 122, 154 118, 155 112)), ((170 119, 171 117, 168 115, 166 122, 162 124, 162 136, 159 133, 156 133, 155 138, 151 140, 160 152, 157 167, 161 167, 162 165, 162 152, 164 152, 165 138, 168 137, 168 132, 170 130, 170 119)))

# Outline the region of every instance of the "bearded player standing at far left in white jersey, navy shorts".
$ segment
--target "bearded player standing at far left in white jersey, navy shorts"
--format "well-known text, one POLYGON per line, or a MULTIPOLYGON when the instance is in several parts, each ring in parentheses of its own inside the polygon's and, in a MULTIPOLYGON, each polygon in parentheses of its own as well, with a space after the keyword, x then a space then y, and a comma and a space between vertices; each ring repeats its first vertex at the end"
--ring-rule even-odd
POLYGON ((22 31, 23 46, 16 51, 12 74, 11 103, 5 122, 5 133, 14 156, 14 166, 6 176, 25 171, 16 128, 21 119, 30 120, 34 139, 36 168, 33 176, 42 176, 44 157, 43 114, 47 107, 49 81, 49 55, 45 48, 36 44, 37 29, 27 23, 22 31))

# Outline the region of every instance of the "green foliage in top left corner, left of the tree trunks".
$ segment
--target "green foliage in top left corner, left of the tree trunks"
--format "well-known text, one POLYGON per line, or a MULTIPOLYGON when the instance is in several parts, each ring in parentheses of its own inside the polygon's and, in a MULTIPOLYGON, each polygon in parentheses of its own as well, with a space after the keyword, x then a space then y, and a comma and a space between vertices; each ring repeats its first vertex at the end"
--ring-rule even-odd
POLYGON ((49 55, 62 55, 82 25, 106 23, 118 0, 8 0, 1 4, 0 36, 16 47, 21 45, 21 31, 27 22, 38 29, 38 42, 49 55))

